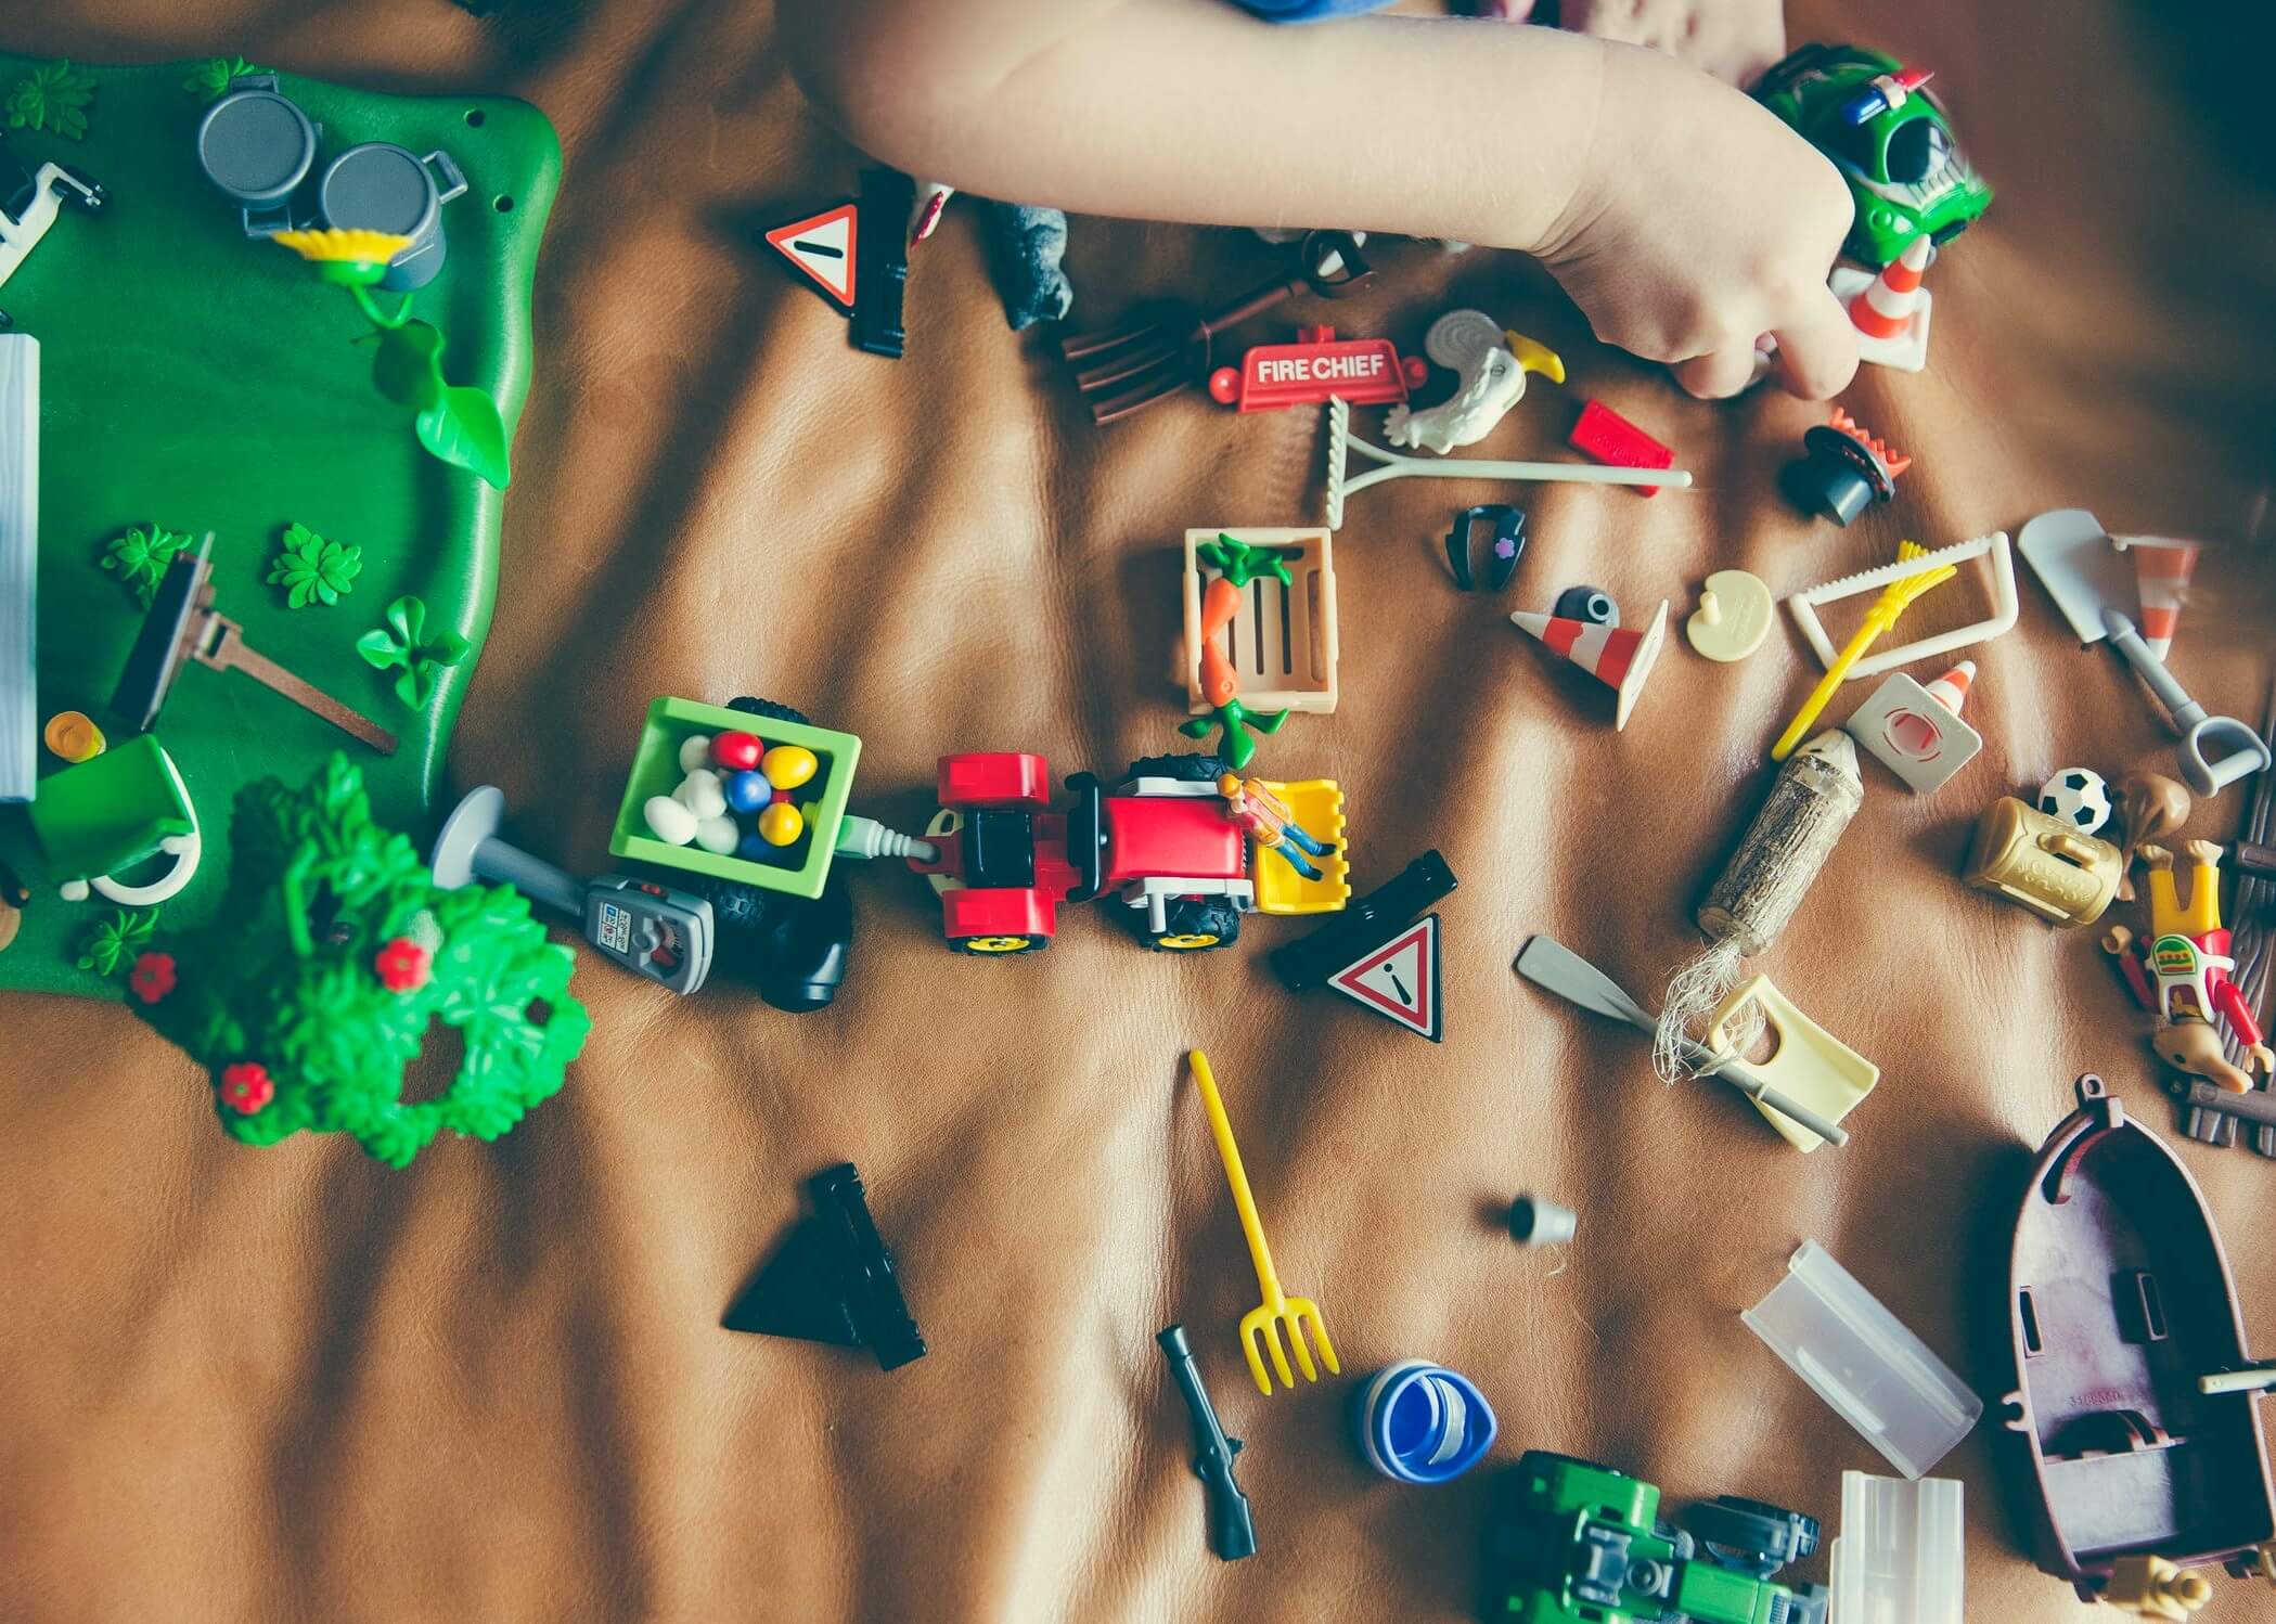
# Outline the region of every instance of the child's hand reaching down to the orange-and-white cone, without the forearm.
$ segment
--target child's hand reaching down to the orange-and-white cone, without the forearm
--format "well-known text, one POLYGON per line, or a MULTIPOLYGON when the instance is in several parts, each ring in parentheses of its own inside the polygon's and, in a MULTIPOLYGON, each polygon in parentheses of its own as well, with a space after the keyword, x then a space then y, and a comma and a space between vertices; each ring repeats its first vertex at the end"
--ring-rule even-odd
POLYGON ((1789 391, 1846 389, 1857 332, 1825 287, 1855 212, 1841 175, 1696 68, 1623 45, 1602 59, 1589 155, 1539 248, 1595 337, 1721 398, 1775 334, 1789 391))

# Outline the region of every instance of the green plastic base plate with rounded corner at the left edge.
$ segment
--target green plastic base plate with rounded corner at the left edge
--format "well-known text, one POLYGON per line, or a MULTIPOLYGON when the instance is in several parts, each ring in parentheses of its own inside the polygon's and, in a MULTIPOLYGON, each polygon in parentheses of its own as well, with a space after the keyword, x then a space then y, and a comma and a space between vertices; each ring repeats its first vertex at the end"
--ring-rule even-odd
MULTIPOLYGON (((39 66, 0 52, 0 102, 39 66)), ((414 594, 430 637, 448 628, 478 653, 503 496, 421 450, 412 412, 373 389, 355 305, 284 248, 248 239, 207 184, 196 130, 209 98, 184 86, 203 64, 73 66, 96 82, 84 139, 5 132, 25 168, 57 161, 109 191, 102 214, 66 207, 0 284, 0 309, 41 343, 39 716, 80 710, 114 748, 132 739, 109 701, 143 614, 100 560, 114 537, 157 523, 214 532, 214 607, 250 648, 401 737, 380 757, 241 671, 184 666, 152 732, 205 832, 196 880, 164 908, 168 926, 191 926, 225 889, 237 792, 269 776, 305 782, 335 748, 362 767, 376 819, 423 839, 473 655, 439 671, 412 712, 396 673, 364 664, 355 639, 414 594), (332 607, 291 610, 287 587, 266 580, 294 523, 362 548, 362 573, 332 607)), ((537 243, 560 187, 553 125, 489 96, 378 96, 289 73, 278 89, 323 127, 319 168, 360 141, 457 159, 469 191, 442 209, 448 259, 414 314, 446 334, 448 380, 489 393, 512 432, 530 384, 537 243)), ((61 767, 41 751, 43 776, 61 767)), ((0 857, 34 892, 0 953, 0 989, 118 996, 116 980, 73 962, 112 905, 55 894, 20 805, 0 805, 0 857)))

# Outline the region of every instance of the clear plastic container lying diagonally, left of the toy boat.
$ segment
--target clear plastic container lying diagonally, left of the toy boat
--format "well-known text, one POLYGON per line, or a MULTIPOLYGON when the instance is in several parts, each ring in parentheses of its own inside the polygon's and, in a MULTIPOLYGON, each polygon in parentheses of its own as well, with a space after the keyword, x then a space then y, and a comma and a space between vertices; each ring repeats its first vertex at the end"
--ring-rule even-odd
POLYGON ((1739 1317, 1907 1478, 1944 1460, 1985 1412, 1985 1401, 1814 1240, 1739 1317))

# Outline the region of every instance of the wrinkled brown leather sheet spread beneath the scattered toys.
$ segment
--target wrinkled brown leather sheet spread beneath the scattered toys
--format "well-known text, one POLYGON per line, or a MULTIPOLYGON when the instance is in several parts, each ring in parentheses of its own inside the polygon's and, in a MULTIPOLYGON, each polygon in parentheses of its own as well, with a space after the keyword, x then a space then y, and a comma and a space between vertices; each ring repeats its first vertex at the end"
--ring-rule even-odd
MULTIPOLYGON (((2064 764, 2160 767, 2167 739, 2023 578, 2023 623, 1976 651, 1982 760, 1935 796, 1869 762, 1864 812, 1755 962, 1885 1067, 1853 1144, 1803 1158, 1718 1085, 1664 1089, 1639 1037, 1545 999, 1511 958, 1545 930, 1655 992, 1698 944, 1691 908, 1814 662, 1787 623, 1739 666, 1677 641, 1616 735, 1605 691, 1504 614, 1593 582, 1630 616, 1661 596, 1680 616, 1716 566, 1784 591, 1898 537, 2064 505, 2112 530, 2242 535, 2276 466, 2271 41, 2226 34, 2221 7, 2153 23, 2171 11, 1796 7, 1793 39, 1937 66, 2001 189, 1932 273, 1932 368, 1869 371, 1846 398, 1914 457, 1853 530, 1775 494, 1819 409, 1689 403, 1507 257, 1384 243, 1377 289, 1290 312, 1407 350, 1436 312, 1482 305, 1573 373, 1536 382, 1482 453, 1566 455, 1595 396, 1698 473, 1655 500, 1523 491, 1534 539, 1507 600, 1457 594, 1434 564, 1450 509, 1495 491, 1352 500, 1343 705, 1261 760, 1343 782, 1361 887, 1427 846, 1461 876, 1441 1046, 1284 994, 1263 953, 1293 923, 1254 919, 1238 948, 1181 960, 1074 912, 1040 958, 972 962, 894 864, 858 876, 828 1012, 792 1019, 733 985, 678 1001, 587 953, 594 1035, 567 1089, 508 1140, 442 1142, 401 1174, 348 1142, 234 1146, 203 1076, 125 1012, 0 1001, 0 1615, 1461 1617, 1495 1472, 1377 1478, 1350 1442, 1352 1378, 1427 1356, 1498 1408, 1493 1467, 1559 1449, 1675 1503, 1750 1494, 1832 1533, 1841 1469, 1887 1467, 1739 1324, 1816 1237, 1991 1403, 1941 1467, 1966 1481, 1969 1617, 2078 1617, 2032 1572, 1996 1417, 2028 1151, 2076 1074, 2110 1076, 2203 1183, 2262 1349, 2276 1165, 2180 1142, 2146 1019, 2089 933, 1957 869, 1994 796, 2064 764), (1272 1399, 1247 1383, 1234 1326, 1254 1281, 1190 1044, 1215 1058, 1281 1274, 1322 1303, 1341 1381, 1272 1399), (860 1165, 933 1349, 890 1376, 719 1328, 803 1210, 801 1180, 835 1160, 860 1165), (1523 1190, 1577 1208, 1577 1244, 1516 1249, 1500 1215, 1523 1190), (1202 1544, 1154 1349, 1170 1319, 1247 1440, 1250 1563, 1202 1544)), ((856 166, 787 80, 765 0, 521 0, 492 23, 442 0, 48 0, 0 32, 86 61, 230 50, 512 91, 553 116, 569 166, 537 382, 451 760, 460 787, 505 787, 523 844, 580 871, 608 867, 653 694, 767 694, 858 732, 856 801, 904 828, 942 751, 1113 773, 1179 748, 1172 546, 1186 525, 1318 514, 1311 412, 1188 396, 1092 430, 1042 337, 1006 332, 970 205, 917 255, 908 359, 847 350, 751 241, 856 166)), ((1397 118, 1459 136, 1427 86, 1404 89, 1397 118)), ((1079 318, 1206 298, 1265 259, 1245 234, 1079 221, 1079 318)), ((2267 553, 2208 557, 2176 669, 2215 710, 2260 714, 2271 616, 2267 553)), ((2233 837, 2246 794, 2201 805, 2190 832, 2233 837)), ((2224 1581, 2212 1617, 2256 1606, 2224 1581)))

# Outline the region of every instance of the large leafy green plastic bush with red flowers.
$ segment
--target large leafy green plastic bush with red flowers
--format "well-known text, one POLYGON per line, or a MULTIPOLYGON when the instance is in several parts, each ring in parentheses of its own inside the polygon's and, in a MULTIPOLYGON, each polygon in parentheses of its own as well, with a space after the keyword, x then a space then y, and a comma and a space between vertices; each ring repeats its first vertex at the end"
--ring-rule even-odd
POLYGON ((212 1074, 230 1137, 346 1133, 407 1167, 444 1128, 496 1140, 560 1092, 592 1030, 574 964, 519 892, 435 889, 335 753, 305 789, 237 796, 214 923, 139 951, 127 1008, 212 1074), (464 1039, 460 1069, 403 1099, 437 1021, 464 1039))

